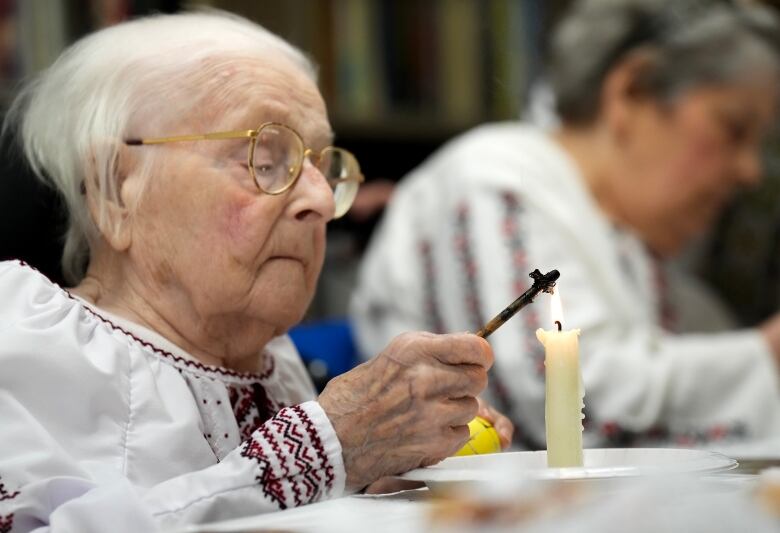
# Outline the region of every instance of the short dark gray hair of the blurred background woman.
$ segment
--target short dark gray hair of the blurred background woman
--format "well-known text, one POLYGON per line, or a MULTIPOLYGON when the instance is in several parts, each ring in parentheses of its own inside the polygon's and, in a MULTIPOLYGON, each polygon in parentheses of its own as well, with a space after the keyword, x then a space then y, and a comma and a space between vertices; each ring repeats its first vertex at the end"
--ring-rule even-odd
POLYGON ((609 71, 639 49, 654 54, 637 80, 643 92, 671 100, 682 91, 780 73, 780 23, 767 8, 715 0, 581 0, 552 38, 549 81, 565 123, 599 113, 609 71))

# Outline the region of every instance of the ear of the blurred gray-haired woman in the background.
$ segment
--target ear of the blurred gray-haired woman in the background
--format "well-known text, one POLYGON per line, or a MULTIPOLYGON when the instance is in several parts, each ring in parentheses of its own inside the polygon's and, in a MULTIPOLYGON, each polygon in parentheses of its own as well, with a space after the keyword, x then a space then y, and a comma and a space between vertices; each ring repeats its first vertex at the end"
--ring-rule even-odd
POLYGON ((623 144, 642 110, 656 107, 648 80, 658 67, 650 50, 637 50, 613 67, 601 88, 602 118, 612 137, 623 144))

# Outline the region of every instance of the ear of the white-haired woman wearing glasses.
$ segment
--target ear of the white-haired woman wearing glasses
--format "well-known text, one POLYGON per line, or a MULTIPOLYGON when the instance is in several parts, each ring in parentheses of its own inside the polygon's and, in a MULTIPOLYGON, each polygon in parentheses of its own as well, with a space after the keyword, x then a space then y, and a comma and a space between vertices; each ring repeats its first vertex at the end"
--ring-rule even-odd
POLYGON ((120 144, 113 164, 101 163, 90 154, 84 193, 92 220, 105 242, 115 251, 124 252, 132 244, 134 207, 140 200, 141 176, 137 157, 130 147, 120 144), (108 168, 101 183, 98 165, 108 168))

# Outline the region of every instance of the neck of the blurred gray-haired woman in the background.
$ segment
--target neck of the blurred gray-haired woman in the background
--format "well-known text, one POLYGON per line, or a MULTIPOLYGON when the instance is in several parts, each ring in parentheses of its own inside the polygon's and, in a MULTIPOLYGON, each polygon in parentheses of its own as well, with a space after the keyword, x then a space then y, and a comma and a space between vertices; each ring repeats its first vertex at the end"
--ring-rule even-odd
POLYGON ((620 200, 620 173, 614 170, 614 147, 609 135, 598 126, 563 126, 555 140, 574 160, 585 187, 613 222, 625 225, 620 200))

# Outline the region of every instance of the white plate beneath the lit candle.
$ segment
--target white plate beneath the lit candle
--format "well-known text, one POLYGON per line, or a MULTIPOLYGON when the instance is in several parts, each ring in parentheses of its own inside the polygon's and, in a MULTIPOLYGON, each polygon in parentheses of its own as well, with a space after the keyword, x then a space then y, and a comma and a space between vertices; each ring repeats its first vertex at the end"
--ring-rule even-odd
POLYGON ((505 452, 450 457, 401 478, 425 483, 488 481, 499 478, 598 479, 670 473, 712 473, 737 467, 725 455, 665 448, 605 448, 584 450, 585 466, 548 468, 547 452, 505 452))

